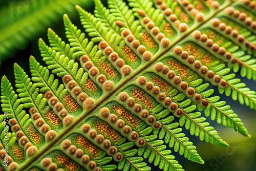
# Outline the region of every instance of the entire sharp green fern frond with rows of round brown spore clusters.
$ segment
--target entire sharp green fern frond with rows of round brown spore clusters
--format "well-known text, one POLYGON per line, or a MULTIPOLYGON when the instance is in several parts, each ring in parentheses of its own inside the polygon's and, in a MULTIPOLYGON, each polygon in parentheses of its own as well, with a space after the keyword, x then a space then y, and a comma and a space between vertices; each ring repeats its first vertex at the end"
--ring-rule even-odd
POLYGON ((256 110, 235 74, 256 80, 255 2, 128 2, 76 6, 85 32, 65 14, 69 42, 39 39, 47 67, 15 63, 16 92, 2 78, 0 170, 183 170, 172 151, 204 163, 184 129, 228 146, 206 117, 250 137, 209 85, 256 110))

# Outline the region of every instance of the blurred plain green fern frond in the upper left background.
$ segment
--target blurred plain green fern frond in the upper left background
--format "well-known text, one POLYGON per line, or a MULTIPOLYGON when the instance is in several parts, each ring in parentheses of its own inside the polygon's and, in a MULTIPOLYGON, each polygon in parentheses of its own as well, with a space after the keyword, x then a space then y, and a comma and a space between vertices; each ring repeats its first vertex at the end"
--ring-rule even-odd
MULTIPOLYGON (((1 7, 3 3, 1 2, 1 7)), ((0 42, 3 46, 0 48, 0 65, 2 61, 15 52, 13 49, 25 48, 29 40, 34 40, 36 34, 49 27, 50 23, 56 22, 61 17, 60 14, 74 13, 75 9, 72 8, 74 5, 88 7, 92 6, 92 2, 80 0, 66 2, 31 1, 24 4, 16 2, 6 7, 5 10, 1 10, 0 16, 3 19, 0 22, 2 33, 0 42), (47 13, 48 19, 45 19, 45 15, 42 13, 47 13), (40 27, 36 27, 38 24, 40 27)))

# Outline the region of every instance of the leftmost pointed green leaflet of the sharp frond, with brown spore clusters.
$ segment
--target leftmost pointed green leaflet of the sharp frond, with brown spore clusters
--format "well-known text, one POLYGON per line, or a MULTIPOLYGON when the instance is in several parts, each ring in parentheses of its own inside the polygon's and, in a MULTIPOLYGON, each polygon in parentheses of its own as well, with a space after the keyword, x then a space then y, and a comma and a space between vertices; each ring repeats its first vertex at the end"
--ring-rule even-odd
POLYGON ((22 162, 25 156, 33 156, 38 149, 37 147, 40 147, 45 142, 42 139, 42 135, 32 124, 32 119, 23 110, 23 104, 20 104, 20 100, 17 97, 11 87, 11 83, 4 76, 1 82, 1 106, 3 112, 5 112, 4 115, 1 115, 3 116, 3 122, 1 121, 0 126, 1 142, 2 144, 8 142, 8 148, 5 149, 7 149, 6 153, 8 152, 11 158, 14 159, 13 165, 16 165, 16 162, 22 162), (12 133, 8 133, 8 122, 13 131, 12 133), (33 132, 34 136, 31 135, 31 132, 33 132), (17 145, 18 142, 20 147, 17 145), (30 149, 25 147, 26 143, 31 144, 30 149), (23 149, 26 154, 23 153, 23 149), (20 151, 20 154, 16 154, 15 150, 20 151))

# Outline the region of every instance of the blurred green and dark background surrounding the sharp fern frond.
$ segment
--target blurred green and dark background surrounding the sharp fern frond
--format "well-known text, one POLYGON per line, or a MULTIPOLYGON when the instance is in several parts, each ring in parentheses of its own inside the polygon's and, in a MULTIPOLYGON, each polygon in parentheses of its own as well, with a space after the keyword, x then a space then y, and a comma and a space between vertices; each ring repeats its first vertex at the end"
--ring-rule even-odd
MULTIPOLYGON (((40 52, 38 49, 38 39, 41 37, 46 42, 47 40, 47 28, 51 27, 62 40, 67 41, 65 36, 65 28, 62 22, 62 16, 67 13, 71 18, 72 22, 82 29, 79 16, 75 11, 75 4, 80 5, 82 8, 89 12, 93 12, 93 1, 92 0, 81 0, 81 1, 50 1, 50 0, 1 0, 0 2, 0 60, 2 60, 2 65, 0 66, 0 76, 6 75, 7 78, 12 83, 15 84, 13 64, 17 62, 25 72, 30 76, 29 72, 29 56, 33 55, 41 65, 45 66, 45 62, 41 60, 40 52), (20 4, 24 2, 27 6, 24 12, 12 20, 11 23, 7 23, 6 17, 11 18, 15 10, 20 7, 20 4), (51 6, 51 3, 59 3, 59 7, 51 6), (61 2, 67 3, 63 7, 61 2), (18 6, 17 6, 18 5, 18 6), (49 8, 51 7, 51 8, 49 8), (30 11, 27 11, 30 10, 30 11), (41 10, 40 17, 36 13, 37 10, 41 10), (38 16, 38 18, 36 18, 38 16), (38 19, 34 21, 33 19, 38 19), (24 23, 25 22, 25 23, 24 23), (34 22, 34 23, 33 23, 34 22), (25 25, 28 28, 22 28, 25 25), (4 39, 3 37, 8 37, 4 39), (1 41, 2 40, 2 41, 1 41), (7 48, 6 48, 7 47, 7 48), (3 48, 6 48, 3 50, 3 48), (4 52, 6 51, 6 52, 4 52)), ((106 5, 106 1, 103 1, 106 5)), ((19 9, 22 10, 22 9, 19 9)), ((49 44, 48 44, 49 45, 49 44)), ((247 86, 256 91, 255 81, 242 79, 247 86)), ((212 87, 215 89, 215 87, 212 87)), ((218 90, 215 90, 215 95, 219 95, 218 90)), ((231 109, 235 111, 239 118, 243 121, 245 127, 247 128, 251 138, 246 138, 239 133, 225 128, 222 125, 216 123, 216 121, 210 122, 211 126, 214 126, 218 131, 220 137, 225 140, 230 146, 227 148, 217 147, 205 142, 201 142, 198 137, 190 136, 189 132, 183 129, 183 133, 189 137, 189 140, 194 142, 197 146, 197 151, 205 164, 197 164, 188 161, 183 156, 178 153, 173 152, 172 154, 176 156, 176 159, 184 167, 185 170, 237 170, 237 171, 253 171, 256 170, 256 112, 249 109, 245 105, 241 105, 237 101, 232 101, 230 97, 221 95, 221 100, 225 100, 228 105, 231 105, 231 109)), ((204 114, 202 114, 204 116, 204 114)), ((153 164, 148 163, 152 166, 152 170, 158 170, 158 167, 154 167, 153 164)))

